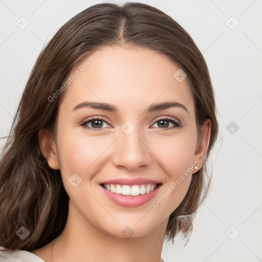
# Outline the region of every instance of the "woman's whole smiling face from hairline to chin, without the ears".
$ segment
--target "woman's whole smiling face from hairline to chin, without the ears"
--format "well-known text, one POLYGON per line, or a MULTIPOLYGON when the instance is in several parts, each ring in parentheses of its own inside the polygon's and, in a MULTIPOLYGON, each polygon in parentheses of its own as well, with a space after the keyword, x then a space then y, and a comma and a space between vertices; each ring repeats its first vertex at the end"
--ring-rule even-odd
POLYGON ((164 55, 127 47, 99 51, 70 73, 53 168, 61 170, 79 221, 115 236, 142 236, 166 226, 196 171, 201 152, 193 96, 183 72, 164 55))

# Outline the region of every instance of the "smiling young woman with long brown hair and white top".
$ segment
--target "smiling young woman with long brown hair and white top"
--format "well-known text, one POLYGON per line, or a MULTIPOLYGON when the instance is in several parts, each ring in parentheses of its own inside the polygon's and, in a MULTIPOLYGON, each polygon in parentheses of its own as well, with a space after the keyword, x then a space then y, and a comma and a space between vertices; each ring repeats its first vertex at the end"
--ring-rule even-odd
POLYGON ((162 261, 206 197, 206 62, 140 3, 98 4, 39 55, 1 156, 0 261, 162 261))

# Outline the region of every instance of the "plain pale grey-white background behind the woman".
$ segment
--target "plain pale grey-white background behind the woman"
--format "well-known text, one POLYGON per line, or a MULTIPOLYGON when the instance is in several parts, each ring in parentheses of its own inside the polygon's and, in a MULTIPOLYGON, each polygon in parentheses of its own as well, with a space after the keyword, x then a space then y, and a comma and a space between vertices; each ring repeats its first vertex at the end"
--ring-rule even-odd
MULTIPOLYGON (((8 135, 45 43, 74 15, 102 2, 0 0, 1 138, 8 135), (16 25, 21 16, 30 21, 25 30, 16 25)), ((162 255, 167 262, 262 261, 262 1, 138 2, 164 11, 192 36, 208 63, 219 112, 220 135, 209 167, 211 192, 194 221, 189 244, 165 243, 162 255), (231 121, 239 126, 234 134, 231 121)))

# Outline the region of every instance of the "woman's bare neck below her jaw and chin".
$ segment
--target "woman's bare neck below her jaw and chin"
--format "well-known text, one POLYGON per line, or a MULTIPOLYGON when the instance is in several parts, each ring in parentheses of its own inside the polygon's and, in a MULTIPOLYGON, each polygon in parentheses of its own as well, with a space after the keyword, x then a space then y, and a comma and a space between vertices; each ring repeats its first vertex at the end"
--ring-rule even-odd
POLYGON ((160 262, 167 222, 141 237, 117 237, 93 226, 69 205, 67 225, 53 245, 53 262, 160 262))

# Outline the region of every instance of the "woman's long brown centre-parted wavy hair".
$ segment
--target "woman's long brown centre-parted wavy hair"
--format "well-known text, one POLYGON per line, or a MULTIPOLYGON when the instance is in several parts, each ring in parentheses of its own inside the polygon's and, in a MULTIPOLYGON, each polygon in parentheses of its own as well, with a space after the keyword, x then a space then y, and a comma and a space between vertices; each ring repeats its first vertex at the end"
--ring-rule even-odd
MULTIPOLYGON (((38 143, 40 128, 55 132, 58 103, 66 91, 53 102, 48 98, 83 57, 98 48, 125 43, 167 56, 187 74, 199 139, 203 123, 211 120, 208 159, 219 128, 214 92, 204 57, 189 34, 170 16, 149 5, 91 6, 64 24, 41 51, 1 154, 0 244, 7 250, 41 248, 56 238, 67 222, 69 196, 60 170, 49 167, 38 143), (30 232, 24 240, 16 234, 21 226, 30 232)), ((170 215, 168 240, 173 241, 180 232, 185 238, 191 233, 193 216, 210 185, 204 169, 206 163, 192 176, 184 200, 170 215)))

